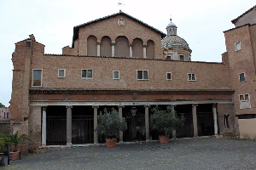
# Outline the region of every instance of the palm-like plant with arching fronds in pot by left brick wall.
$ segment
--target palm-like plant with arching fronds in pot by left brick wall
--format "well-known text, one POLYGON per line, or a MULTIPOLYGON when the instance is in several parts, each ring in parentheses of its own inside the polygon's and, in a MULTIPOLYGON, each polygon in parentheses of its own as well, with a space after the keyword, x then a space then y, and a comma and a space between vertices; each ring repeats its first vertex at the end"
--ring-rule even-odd
POLYGON ((21 142, 24 142, 26 140, 32 141, 28 138, 26 134, 18 135, 19 131, 16 131, 15 133, 12 133, 12 135, 9 135, 8 143, 12 144, 12 151, 10 152, 11 159, 16 160, 20 157, 20 151, 18 151, 17 146, 21 142))

